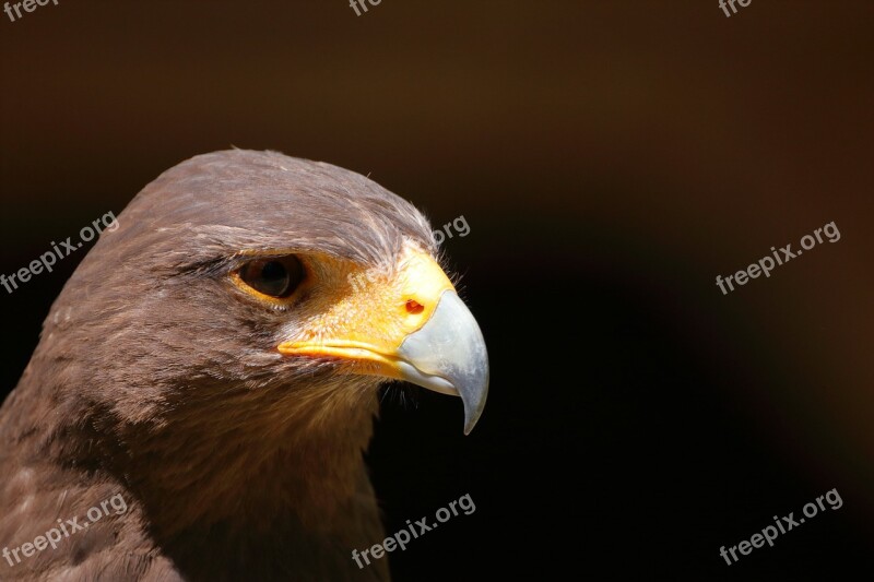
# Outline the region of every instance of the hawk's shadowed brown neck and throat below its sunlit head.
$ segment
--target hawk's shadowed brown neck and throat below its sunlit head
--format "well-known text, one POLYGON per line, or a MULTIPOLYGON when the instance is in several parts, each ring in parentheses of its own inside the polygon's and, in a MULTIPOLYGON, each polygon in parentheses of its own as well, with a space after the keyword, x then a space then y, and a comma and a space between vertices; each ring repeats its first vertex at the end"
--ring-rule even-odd
POLYGON ((267 403, 239 391, 221 404, 172 403, 170 413, 138 424, 94 402, 49 404, 58 389, 37 387, 45 379, 25 375, 0 436, 26 444, 22 456, 52 460, 54 472, 43 474, 64 483, 71 498, 91 503, 101 488, 123 492, 129 519, 141 516, 135 535, 145 550, 192 579, 270 579, 293 562, 297 571, 333 568, 334 579, 346 580, 344 572, 357 571, 351 548, 383 537, 363 461, 378 408, 373 387, 267 403), (47 405, 64 414, 38 427, 47 405))

